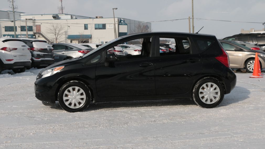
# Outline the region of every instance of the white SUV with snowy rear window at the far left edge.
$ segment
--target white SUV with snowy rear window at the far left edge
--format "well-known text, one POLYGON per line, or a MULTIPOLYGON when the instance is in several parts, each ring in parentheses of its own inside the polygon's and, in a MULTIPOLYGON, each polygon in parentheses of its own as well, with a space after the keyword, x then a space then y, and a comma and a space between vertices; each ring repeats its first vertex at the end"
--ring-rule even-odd
POLYGON ((30 68, 31 54, 29 50, 22 40, 0 38, 0 73, 5 69, 21 73, 26 68, 30 68))

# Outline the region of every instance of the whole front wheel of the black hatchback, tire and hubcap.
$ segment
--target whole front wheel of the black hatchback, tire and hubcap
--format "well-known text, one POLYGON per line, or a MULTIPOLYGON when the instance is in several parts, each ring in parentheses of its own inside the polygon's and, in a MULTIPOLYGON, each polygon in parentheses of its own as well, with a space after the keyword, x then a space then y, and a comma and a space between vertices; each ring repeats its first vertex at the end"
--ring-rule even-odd
POLYGON ((90 89, 80 81, 69 81, 59 90, 60 106, 68 112, 82 112, 89 106, 91 100, 90 89))

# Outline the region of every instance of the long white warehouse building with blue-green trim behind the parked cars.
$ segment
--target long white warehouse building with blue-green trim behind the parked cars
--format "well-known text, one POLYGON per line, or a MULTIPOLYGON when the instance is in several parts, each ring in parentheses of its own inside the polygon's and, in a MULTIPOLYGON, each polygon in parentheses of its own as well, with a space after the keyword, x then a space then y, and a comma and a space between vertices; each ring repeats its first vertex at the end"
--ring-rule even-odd
MULTIPOLYGON (((0 36, 15 37, 13 14, 0 11, 0 36)), ((117 37, 127 34, 151 32, 151 23, 113 17, 86 17, 70 14, 27 15, 16 12, 16 37, 44 39, 50 43, 106 43, 115 38, 114 19, 117 37)))

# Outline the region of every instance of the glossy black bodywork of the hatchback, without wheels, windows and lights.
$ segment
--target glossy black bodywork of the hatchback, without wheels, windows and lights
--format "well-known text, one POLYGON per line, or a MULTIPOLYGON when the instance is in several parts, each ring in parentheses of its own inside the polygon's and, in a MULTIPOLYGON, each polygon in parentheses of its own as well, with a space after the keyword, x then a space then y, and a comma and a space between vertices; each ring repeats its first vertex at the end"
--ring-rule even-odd
POLYGON ((236 85, 236 75, 215 59, 220 54, 220 45, 212 35, 151 32, 123 36, 83 58, 64 60, 43 69, 35 82, 35 94, 41 101, 54 103, 63 84, 78 80, 89 87, 93 102, 191 98, 195 83, 203 77, 214 77, 222 82, 228 94, 236 85), (190 54, 159 56, 159 36, 188 38, 190 54), (110 63, 105 60, 107 49, 143 37, 152 37, 150 57, 128 57, 110 63), (199 49, 200 39, 205 39, 209 47, 199 49), (89 63, 99 55, 101 59, 98 62, 89 63), (61 71, 41 78, 43 71, 60 66, 64 66, 61 71))

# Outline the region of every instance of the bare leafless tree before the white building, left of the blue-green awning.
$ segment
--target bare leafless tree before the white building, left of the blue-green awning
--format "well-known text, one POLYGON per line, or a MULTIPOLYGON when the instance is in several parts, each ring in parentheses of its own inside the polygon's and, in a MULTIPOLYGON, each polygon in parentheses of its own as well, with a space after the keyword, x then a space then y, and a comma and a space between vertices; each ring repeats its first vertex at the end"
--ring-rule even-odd
POLYGON ((54 43, 63 42, 62 36, 64 36, 65 26, 60 24, 50 24, 47 28, 47 33, 52 34, 51 40, 54 43))

